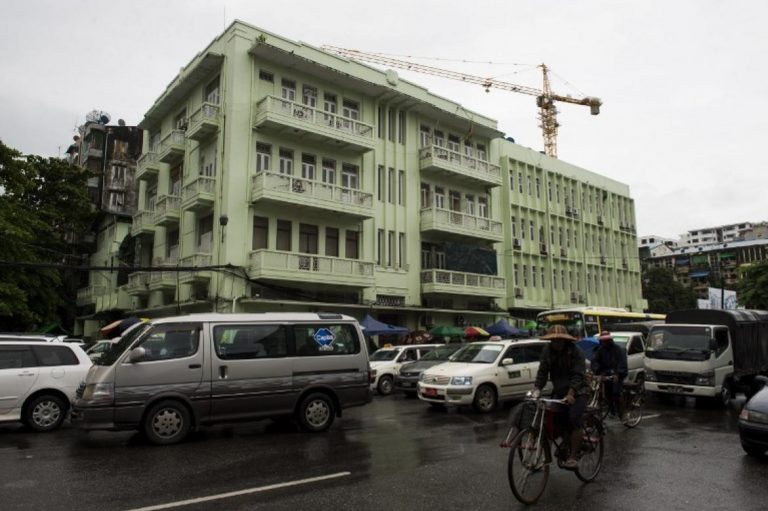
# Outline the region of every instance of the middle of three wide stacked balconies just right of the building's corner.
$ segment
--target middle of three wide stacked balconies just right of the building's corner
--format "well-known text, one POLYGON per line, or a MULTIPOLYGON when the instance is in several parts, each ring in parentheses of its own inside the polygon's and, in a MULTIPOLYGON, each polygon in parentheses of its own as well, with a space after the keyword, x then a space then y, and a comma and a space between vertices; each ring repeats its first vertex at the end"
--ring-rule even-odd
POLYGON ((308 208, 355 219, 373 217, 373 195, 353 188, 274 172, 253 176, 251 202, 308 208))

